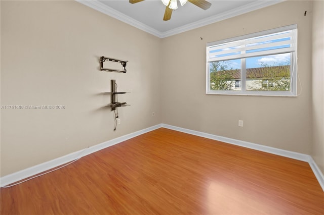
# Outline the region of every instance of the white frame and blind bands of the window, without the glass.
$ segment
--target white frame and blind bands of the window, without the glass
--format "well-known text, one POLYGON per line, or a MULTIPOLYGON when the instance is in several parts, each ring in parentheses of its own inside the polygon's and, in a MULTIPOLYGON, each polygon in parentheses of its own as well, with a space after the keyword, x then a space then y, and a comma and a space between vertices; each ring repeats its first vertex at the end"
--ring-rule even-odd
MULTIPOLYGON (((236 50, 236 49, 235 49, 236 50)), ((279 27, 275 29, 270 29, 266 31, 261 31, 257 33, 247 34, 243 36, 233 37, 229 39, 219 40, 215 42, 207 43, 207 64, 206 64, 206 93, 207 94, 227 94, 227 95, 268 95, 268 96, 297 96, 297 25, 289 25, 285 27, 279 27), (291 87, 290 91, 276 91, 276 90, 264 90, 264 91, 257 91, 257 90, 246 90, 246 62, 245 59, 248 57, 255 57, 251 56, 253 53, 246 53, 244 48, 238 48, 241 50, 240 54, 236 56, 223 56, 223 57, 213 57, 210 54, 210 48, 215 45, 220 45, 226 43, 245 43, 246 40, 254 37, 259 37, 268 34, 274 34, 278 32, 284 31, 291 31, 291 47, 288 48, 280 48, 280 49, 272 49, 268 51, 260 51, 257 56, 268 56, 268 55, 276 55, 280 53, 291 53, 291 60, 290 60, 290 78, 291 78, 291 87), (241 59, 241 90, 210 90, 210 66, 211 62, 217 61, 226 61, 226 60, 234 60, 234 59, 241 59)))

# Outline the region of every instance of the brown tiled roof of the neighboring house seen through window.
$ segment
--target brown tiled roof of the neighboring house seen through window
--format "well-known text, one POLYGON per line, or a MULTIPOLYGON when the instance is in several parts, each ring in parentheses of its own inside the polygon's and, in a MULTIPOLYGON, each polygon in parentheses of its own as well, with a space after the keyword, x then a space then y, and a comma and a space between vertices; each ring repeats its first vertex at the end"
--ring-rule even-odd
MULTIPOLYGON (((233 79, 240 79, 241 70, 227 70, 233 79)), ((247 69, 247 78, 290 77, 290 66, 258 67, 247 69)))

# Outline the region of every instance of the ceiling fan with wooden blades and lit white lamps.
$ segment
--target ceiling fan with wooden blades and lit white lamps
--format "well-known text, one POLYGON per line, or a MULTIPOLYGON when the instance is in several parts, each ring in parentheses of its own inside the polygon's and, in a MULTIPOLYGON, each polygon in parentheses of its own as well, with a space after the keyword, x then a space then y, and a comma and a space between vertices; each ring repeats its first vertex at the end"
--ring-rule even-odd
MULTIPOLYGON (((135 4, 138 2, 143 2, 144 0, 129 0, 131 4, 135 4)), ((163 4, 166 6, 166 11, 164 13, 163 20, 168 21, 171 19, 172 11, 178 8, 177 0, 161 0, 163 4)), ((195 6, 207 10, 211 7, 211 3, 206 0, 179 0, 181 6, 183 6, 187 1, 194 4, 195 6)))

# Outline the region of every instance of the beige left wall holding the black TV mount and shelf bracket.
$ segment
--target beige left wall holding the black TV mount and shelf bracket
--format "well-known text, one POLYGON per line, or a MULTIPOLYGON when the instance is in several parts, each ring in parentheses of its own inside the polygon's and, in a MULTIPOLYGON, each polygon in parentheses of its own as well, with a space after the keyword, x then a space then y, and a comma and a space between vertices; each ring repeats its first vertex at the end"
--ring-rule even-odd
POLYGON ((1 105, 66 106, 1 110, 1 176, 160 123, 160 45, 74 1, 1 1, 1 105), (100 56, 128 72, 100 71, 100 56), (110 79, 131 91, 115 132, 110 79))

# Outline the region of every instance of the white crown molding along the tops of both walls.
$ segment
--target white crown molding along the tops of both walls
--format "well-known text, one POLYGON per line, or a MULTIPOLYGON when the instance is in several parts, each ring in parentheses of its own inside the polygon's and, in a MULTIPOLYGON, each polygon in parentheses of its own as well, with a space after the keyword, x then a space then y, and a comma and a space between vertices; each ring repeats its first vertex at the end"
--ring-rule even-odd
POLYGON ((172 30, 169 30, 169 31, 166 31, 166 32, 160 32, 148 25, 145 25, 143 24, 142 22, 139 22, 123 13, 120 13, 119 11, 113 9, 113 8, 110 8, 109 6, 101 3, 101 2, 98 2, 97 0, 93 0, 93 1, 83 1, 83 0, 75 0, 76 2, 78 3, 81 3, 83 5, 86 5, 92 9, 95 9, 101 13, 104 13, 108 16, 111 16, 121 22, 125 22, 131 26, 134 26, 140 30, 143 30, 147 33, 150 33, 154 36, 157 36, 159 38, 165 38, 165 37, 168 37, 168 36, 172 36, 172 35, 175 35, 175 34, 179 34, 179 33, 182 33, 182 32, 185 32, 185 31, 189 31, 189 30, 192 30, 192 29, 195 29, 195 28, 199 28, 199 27, 202 27, 202 26, 206 26, 206 25, 209 25, 209 24, 212 24, 212 23, 215 23, 215 22, 219 22, 219 21, 222 21, 222 20, 225 20, 225 19, 229 19, 229 18, 232 18, 232 17, 235 17, 235 16, 238 16, 238 15, 241 15, 241 14, 245 14, 245 13, 249 13, 251 11, 255 11, 255 10, 258 10, 258 9, 261 9, 261 8, 265 8, 265 7, 268 7, 268 6, 272 6, 272 5, 275 5, 275 4, 278 4, 278 3, 281 3, 281 2, 284 2, 286 0, 274 0, 274 1, 256 1, 256 2, 253 2, 253 3, 250 3, 250 4, 247 4, 245 6, 242 6, 242 7, 238 7, 238 8, 235 8, 233 10, 229 10, 229 11, 226 11, 224 13, 220 13, 220 14, 217 14, 215 16, 212 16, 212 17, 209 17, 209 18, 206 18, 206 19, 202 19, 202 20, 199 20, 199 21, 196 21, 196 22, 193 22, 191 24, 187 24, 187 25, 184 25, 184 26, 181 26, 179 28, 175 28, 175 29, 172 29, 172 30))

